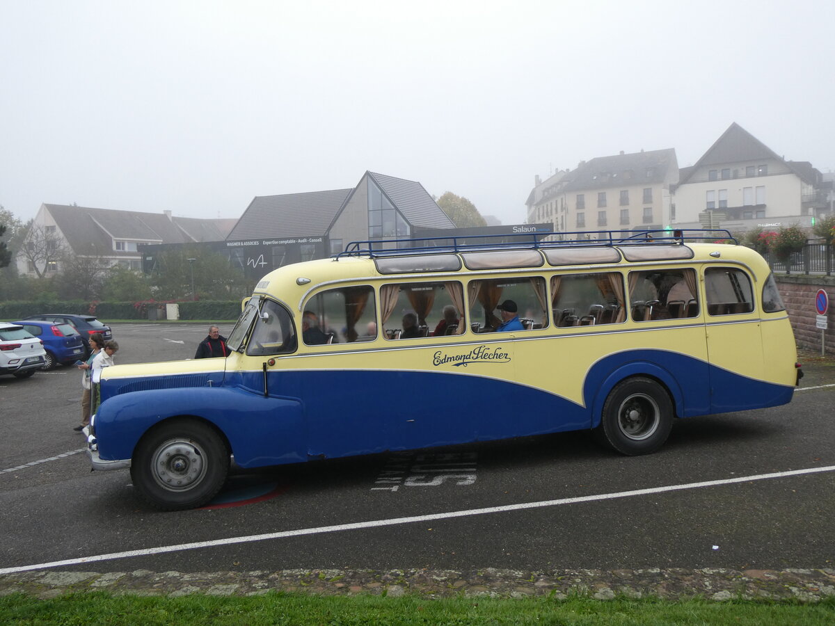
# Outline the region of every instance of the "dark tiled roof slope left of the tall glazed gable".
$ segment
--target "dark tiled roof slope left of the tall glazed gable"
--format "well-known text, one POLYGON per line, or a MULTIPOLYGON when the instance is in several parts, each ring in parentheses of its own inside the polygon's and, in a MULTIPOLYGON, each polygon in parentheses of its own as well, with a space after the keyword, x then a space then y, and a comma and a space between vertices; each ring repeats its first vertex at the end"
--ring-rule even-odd
POLYGON ((351 191, 256 196, 226 239, 325 235, 351 191))

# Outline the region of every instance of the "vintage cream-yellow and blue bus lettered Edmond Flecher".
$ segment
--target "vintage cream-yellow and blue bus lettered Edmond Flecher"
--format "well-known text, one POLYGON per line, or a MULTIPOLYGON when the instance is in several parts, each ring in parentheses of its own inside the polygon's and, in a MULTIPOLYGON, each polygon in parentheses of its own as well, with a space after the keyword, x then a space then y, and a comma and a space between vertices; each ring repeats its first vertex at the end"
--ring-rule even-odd
POLYGON ((227 358, 104 371, 93 467, 130 467, 173 510, 209 502, 230 457, 580 429, 637 455, 676 418, 791 401, 795 342, 765 260, 726 231, 672 235, 375 241, 281 267, 245 300, 227 358))

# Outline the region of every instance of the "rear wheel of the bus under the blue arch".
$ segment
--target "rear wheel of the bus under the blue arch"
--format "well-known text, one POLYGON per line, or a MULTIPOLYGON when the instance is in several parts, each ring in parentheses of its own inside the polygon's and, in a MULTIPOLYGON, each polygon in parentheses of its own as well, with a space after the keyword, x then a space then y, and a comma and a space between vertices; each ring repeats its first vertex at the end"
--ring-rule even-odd
POLYGON ((673 403, 663 386, 644 376, 627 378, 606 397, 595 435, 621 454, 650 454, 669 437, 673 413, 673 403))

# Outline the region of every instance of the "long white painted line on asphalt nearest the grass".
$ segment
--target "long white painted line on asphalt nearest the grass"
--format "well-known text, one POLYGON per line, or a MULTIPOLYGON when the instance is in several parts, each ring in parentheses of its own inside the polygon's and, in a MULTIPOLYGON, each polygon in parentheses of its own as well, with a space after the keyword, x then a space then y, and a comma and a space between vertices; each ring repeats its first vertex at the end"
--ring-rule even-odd
POLYGON ((414 515, 412 517, 393 517, 392 519, 377 519, 371 520, 369 522, 337 524, 336 526, 320 526, 318 528, 300 528, 298 530, 286 530, 280 533, 264 533, 260 535, 245 535, 244 537, 213 539, 211 541, 200 541, 195 543, 180 543, 174 546, 159 546, 158 548, 143 548, 141 550, 128 550, 126 552, 97 554, 92 557, 68 558, 64 561, 53 561, 51 563, 35 563, 33 565, 21 565, 17 568, 0 568, 0 574, 29 572, 33 569, 59 568, 64 565, 80 565, 82 563, 95 563, 97 561, 112 561, 117 558, 147 557, 152 554, 180 552, 181 550, 195 550, 196 548, 215 548, 217 546, 230 546, 235 543, 253 543, 256 541, 267 541, 270 539, 301 537, 303 535, 339 533, 346 530, 361 530, 362 528, 381 528, 384 526, 395 526, 397 524, 410 524, 415 522, 431 522, 438 519, 453 519, 454 517, 471 517, 474 515, 487 515, 489 513, 524 511, 525 509, 530 508, 558 507, 563 504, 577 504, 579 502, 598 502, 601 500, 614 500, 620 497, 645 496, 652 493, 676 492, 685 489, 697 489, 699 487, 718 487, 720 485, 731 485, 735 482, 762 481, 767 480, 769 478, 783 478, 789 476, 801 476, 803 474, 815 474, 818 472, 833 471, 835 471, 835 465, 829 465, 827 467, 807 467, 806 469, 802 470, 788 470, 787 472, 773 472, 771 474, 755 474, 753 476, 723 478, 721 480, 715 481, 687 482, 681 485, 668 485, 666 487, 650 487, 647 489, 635 489, 628 492, 600 493, 594 496, 564 497, 559 500, 544 500, 541 502, 521 502, 519 504, 506 504, 501 507, 473 508, 466 511, 449 511, 445 513, 432 513, 430 515, 414 515))

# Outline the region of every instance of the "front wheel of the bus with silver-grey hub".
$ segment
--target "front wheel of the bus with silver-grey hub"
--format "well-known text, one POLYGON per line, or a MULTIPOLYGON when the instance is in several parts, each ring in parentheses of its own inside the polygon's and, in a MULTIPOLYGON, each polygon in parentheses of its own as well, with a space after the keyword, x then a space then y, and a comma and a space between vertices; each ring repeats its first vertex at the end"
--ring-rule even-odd
POLYGON ((139 495, 162 511, 201 507, 229 474, 230 452, 205 422, 164 422, 142 437, 130 464, 139 495))

